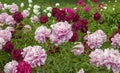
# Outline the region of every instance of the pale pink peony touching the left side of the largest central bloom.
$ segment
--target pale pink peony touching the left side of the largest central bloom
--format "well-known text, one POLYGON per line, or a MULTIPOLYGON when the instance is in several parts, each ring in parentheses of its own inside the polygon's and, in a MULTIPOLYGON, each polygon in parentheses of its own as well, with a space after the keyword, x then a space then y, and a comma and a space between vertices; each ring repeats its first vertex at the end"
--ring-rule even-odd
POLYGON ((35 31, 35 39, 39 43, 45 43, 46 39, 50 37, 51 30, 45 26, 40 26, 35 31))

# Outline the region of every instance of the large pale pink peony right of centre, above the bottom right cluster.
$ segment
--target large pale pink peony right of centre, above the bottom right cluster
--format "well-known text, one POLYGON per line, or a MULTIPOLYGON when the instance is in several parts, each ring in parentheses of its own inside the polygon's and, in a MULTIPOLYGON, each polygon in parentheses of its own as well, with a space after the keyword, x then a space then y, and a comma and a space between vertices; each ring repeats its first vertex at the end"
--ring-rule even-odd
POLYGON ((100 48, 106 39, 107 35, 102 30, 97 30, 93 34, 88 34, 84 37, 91 49, 100 48))

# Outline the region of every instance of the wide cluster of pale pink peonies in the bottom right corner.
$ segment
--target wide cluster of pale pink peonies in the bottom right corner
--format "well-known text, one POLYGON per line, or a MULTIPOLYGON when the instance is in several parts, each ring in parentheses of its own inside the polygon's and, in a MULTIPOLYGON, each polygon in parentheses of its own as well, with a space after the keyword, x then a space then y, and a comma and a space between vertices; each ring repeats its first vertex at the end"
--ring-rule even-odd
POLYGON ((114 50, 113 48, 108 48, 104 51, 95 49, 95 51, 90 53, 89 57, 91 63, 97 67, 106 66, 107 69, 112 68, 114 73, 120 72, 120 53, 118 50, 114 50))

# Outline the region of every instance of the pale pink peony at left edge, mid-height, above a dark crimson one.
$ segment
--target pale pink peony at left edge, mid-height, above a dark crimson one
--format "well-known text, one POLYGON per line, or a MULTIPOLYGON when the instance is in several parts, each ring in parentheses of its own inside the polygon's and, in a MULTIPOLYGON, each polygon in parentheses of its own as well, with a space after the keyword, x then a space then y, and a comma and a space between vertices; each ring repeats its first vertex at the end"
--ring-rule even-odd
POLYGON ((7 30, 0 30, 0 37, 3 38, 6 42, 8 42, 11 40, 12 34, 7 30))

